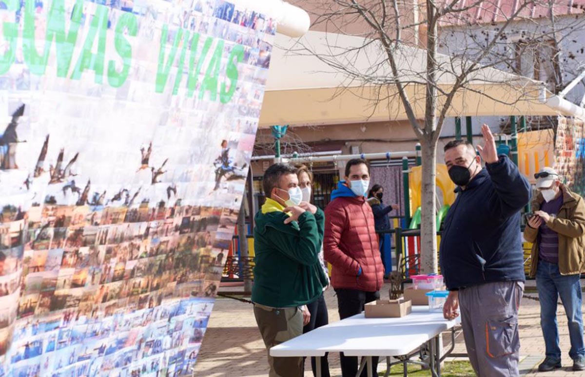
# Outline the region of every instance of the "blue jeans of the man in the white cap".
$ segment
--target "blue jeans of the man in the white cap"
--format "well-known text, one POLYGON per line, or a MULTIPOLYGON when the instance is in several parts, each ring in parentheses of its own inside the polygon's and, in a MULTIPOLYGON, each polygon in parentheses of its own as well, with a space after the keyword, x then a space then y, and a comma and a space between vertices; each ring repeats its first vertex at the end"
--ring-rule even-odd
POLYGON ((573 360, 585 357, 583 344, 583 314, 581 313, 580 275, 561 275, 559 265, 545 261, 538 262, 536 288, 541 303, 541 327, 545 338, 546 357, 560 361, 559 330, 556 321, 556 306, 559 299, 565 307, 569 324, 573 360))

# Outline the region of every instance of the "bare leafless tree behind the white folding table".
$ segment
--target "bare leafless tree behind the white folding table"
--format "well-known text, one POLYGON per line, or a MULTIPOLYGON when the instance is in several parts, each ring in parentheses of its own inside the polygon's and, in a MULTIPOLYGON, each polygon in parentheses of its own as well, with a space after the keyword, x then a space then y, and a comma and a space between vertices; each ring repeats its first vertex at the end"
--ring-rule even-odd
MULTIPOLYGON (((550 26, 553 17, 535 18, 542 9, 568 6, 554 0, 425 0, 422 4, 401 0, 320 0, 314 4, 314 27, 325 30, 324 49, 300 41, 293 53, 312 54, 345 81, 336 95, 345 92, 367 99, 371 110, 388 109, 388 119, 403 111, 422 146, 421 255, 423 272, 436 272, 436 150, 441 129, 453 102, 466 94, 490 96, 491 101, 514 106, 525 101, 518 93, 534 92, 538 83, 518 79, 495 68, 515 67, 518 53, 511 53, 507 33, 524 23, 550 26), (512 3, 514 6, 512 6, 512 3), (485 23, 478 16, 497 22, 485 23), (346 32, 346 25, 361 23, 363 32, 346 32), (496 25, 497 24, 497 25, 496 25), (495 25, 495 27, 494 27, 495 25), (452 26, 455 41, 442 36, 440 27, 452 26), (340 42, 350 34, 352 43, 340 42), (450 43, 450 44, 446 44, 450 43), (439 48, 444 54, 439 53, 439 48), (364 65, 366 61, 366 65, 364 65), (482 88, 505 82, 510 90, 490 95, 482 88)), ((543 12, 546 15, 546 12, 543 12)), ((562 27, 523 29, 519 45, 528 49, 548 43, 548 36, 564 35, 582 22, 577 18, 562 27)), ((560 75, 559 75, 560 77, 560 75)), ((505 114, 503 114, 505 115, 505 114)))

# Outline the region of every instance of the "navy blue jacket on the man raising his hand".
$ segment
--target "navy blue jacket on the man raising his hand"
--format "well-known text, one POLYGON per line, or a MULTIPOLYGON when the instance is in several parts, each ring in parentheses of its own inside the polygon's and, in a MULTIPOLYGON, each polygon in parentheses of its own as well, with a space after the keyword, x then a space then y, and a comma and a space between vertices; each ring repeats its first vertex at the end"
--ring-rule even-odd
POLYGON ((520 210, 530 184, 505 155, 486 164, 459 192, 445 217, 439 261, 449 290, 524 281, 520 210))

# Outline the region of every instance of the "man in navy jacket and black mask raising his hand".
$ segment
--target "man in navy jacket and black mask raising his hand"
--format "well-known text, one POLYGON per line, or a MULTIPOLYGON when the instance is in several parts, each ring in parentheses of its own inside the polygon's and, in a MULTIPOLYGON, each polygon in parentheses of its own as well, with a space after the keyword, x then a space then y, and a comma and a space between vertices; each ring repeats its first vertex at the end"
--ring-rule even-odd
POLYGON ((518 376, 518 307, 524 292, 520 210, 530 185, 510 159, 498 157, 488 126, 478 146, 445 146, 457 199, 445 219, 439 260, 449 297, 446 319, 460 309, 467 354, 479 376, 518 376))

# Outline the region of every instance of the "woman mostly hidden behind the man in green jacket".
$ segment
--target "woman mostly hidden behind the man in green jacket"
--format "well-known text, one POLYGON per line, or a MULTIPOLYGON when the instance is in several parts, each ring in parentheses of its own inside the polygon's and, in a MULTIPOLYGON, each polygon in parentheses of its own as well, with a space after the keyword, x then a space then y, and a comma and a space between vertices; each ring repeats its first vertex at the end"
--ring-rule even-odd
MULTIPOLYGON (((311 202, 311 191, 313 186, 313 174, 305 165, 296 165, 297 168, 297 177, 298 177, 298 186, 301 188, 302 192, 302 201, 306 203, 311 202)), ((327 286, 323 288, 324 292, 326 289, 329 288, 329 271, 325 267, 325 261, 323 260, 323 247, 321 247, 321 253, 319 253, 319 264, 321 264, 321 268, 325 276, 327 276, 327 286)), ((302 328, 302 333, 308 333, 311 330, 315 330, 317 327, 325 326, 329 323, 329 315, 327 313, 327 305, 325 303, 325 297, 323 293, 319 296, 318 299, 314 300, 313 302, 309 302, 307 304, 309 313, 311 313, 311 319, 309 323, 302 328)), ((321 375, 323 377, 329 377, 329 362, 327 359, 327 354, 324 357, 321 357, 321 375)), ((317 369, 316 369, 316 362, 315 358, 311 357, 311 368, 313 371, 313 375, 316 377, 317 369)))

